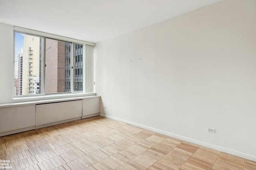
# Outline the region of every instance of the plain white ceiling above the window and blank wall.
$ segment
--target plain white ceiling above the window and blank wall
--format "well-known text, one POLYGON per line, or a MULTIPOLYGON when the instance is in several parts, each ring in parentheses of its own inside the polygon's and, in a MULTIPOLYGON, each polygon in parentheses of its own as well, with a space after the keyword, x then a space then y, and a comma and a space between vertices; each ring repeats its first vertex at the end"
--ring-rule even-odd
POLYGON ((98 43, 220 0, 0 0, 0 22, 98 43))

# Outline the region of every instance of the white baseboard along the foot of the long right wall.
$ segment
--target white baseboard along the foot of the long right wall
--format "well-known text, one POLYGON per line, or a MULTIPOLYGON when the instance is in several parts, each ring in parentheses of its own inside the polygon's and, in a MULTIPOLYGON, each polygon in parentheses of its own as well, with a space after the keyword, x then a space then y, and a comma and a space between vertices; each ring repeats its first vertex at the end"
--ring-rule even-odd
POLYGON ((147 129, 147 130, 150 130, 150 131, 153 131, 153 132, 156 132, 156 133, 160 133, 162 135, 166 135, 166 136, 169 136, 169 137, 180 139, 182 141, 187 141, 187 142, 190 142, 190 143, 201 145, 203 147, 208 147, 208 148, 215 149, 215 150, 218 150, 218 151, 221 151, 221 152, 225 152, 225 153, 228 153, 228 154, 239 156, 241 158, 245 158, 245 159, 248 159, 248 160, 256 161, 256 156, 255 155, 246 154, 246 153, 243 153, 243 152, 239 152, 237 150, 232 150, 232 149, 228 149, 228 148, 212 145, 212 144, 205 143, 205 142, 202 142, 202 141, 197 141, 197 140, 194 140, 194 139, 191 139, 191 138, 187 138, 187 137, 184 137, 184 136, 176 135, 174 133, 162 131, 162 130, 155 129, 155 128, 152 128, 152 127, 148 127, 148 126, 145 126, 145 125, 140 125, 138 123, 134 123, 134 122, 131 122, 131 121, 126 121, 126 120, 119 119, 119 118, 116 118, 116 117, 112 117, 112 116, 109 116, 109 115, 105 115, 105 114, 102 114, 102 113, 100 113, 100 116, 106 117, 106 118, 109 118, 109 119, 113 119, 113 120, 117 120, 117 121, 120 121, 120 122, 123 122, 123 123, 127 123, 129 125, 134 125, 136 127, 140 127, 140 128, 147 129))

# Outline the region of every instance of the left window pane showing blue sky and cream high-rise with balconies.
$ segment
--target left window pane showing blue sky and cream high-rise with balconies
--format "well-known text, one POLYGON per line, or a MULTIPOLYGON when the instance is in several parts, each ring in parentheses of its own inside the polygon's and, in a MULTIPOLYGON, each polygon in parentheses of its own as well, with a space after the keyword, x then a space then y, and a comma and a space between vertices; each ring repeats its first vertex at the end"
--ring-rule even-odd
POLYGON ((41 94, 44 38, 15 32, 14 95, 41 94))

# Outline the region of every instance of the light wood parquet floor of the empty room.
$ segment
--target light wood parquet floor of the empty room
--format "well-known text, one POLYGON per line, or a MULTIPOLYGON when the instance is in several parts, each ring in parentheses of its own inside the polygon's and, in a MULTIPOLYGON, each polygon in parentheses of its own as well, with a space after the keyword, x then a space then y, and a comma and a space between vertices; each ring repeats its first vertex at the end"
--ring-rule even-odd
POLYGON ((256 162, 96 116, 0 137, 12 169, 256 170, 256 162))

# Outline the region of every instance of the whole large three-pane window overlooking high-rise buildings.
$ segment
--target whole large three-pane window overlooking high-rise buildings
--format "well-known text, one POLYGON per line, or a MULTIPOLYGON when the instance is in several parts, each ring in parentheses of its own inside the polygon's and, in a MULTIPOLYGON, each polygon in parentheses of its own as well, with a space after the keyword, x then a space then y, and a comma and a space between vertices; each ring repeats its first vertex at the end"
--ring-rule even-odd
POLYGON ((92 45, 25 30, 14 31, 14 96, 93 92, 92 45))

